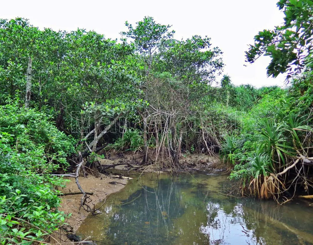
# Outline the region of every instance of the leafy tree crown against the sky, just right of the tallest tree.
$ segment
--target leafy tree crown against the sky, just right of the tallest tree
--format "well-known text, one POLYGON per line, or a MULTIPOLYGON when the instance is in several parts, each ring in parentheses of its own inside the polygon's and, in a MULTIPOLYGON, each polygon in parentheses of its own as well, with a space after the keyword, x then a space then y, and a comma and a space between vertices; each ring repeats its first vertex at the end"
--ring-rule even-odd
POLYGON ((223 52, 218 47, 211 48, 211 38, 193 36, 187 40, 170 40, 161 47, 158 71, 168 71, 180 80, 212 84, 215 76, 223 70, 223 52))

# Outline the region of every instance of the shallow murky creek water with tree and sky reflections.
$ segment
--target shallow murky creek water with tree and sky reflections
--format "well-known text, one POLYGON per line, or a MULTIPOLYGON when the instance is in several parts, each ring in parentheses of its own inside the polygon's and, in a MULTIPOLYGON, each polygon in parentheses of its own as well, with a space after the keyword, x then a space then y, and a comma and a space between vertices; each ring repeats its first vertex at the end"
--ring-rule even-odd
POLYGON ((313 244, 313 209, 222 194, 226 175, 151 174, 111 194, 78 230, 97 244, 313 244))

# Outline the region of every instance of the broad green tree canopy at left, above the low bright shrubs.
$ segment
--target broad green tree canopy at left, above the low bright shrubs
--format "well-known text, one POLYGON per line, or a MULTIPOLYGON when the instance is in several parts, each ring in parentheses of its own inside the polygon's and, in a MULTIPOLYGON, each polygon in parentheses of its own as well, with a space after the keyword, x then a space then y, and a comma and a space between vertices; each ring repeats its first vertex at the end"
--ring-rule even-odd
POLYGON ((143 102, 133 45, 82 29, 41 31, 21 18, 0 20, 0 34, 2 104, 7 95, 24 97, 28 57, 33 60, 31 105, 54 119, 61 116, 57 126, 68 134, 80 133, 81 126, 86 131, 94 115, 134 111, 136 102, 143 102), (92 118, 89 124, 82 114, 92 118))

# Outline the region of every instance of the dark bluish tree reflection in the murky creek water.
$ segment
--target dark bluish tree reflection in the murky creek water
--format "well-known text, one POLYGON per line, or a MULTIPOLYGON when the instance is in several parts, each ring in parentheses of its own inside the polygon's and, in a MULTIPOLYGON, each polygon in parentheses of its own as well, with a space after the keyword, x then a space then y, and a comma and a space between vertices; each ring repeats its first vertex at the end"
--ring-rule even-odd
POLYGON ((142 186, 123 200, 107 231, 114 244, 172 244, 173 220, 184 213, 179 187, 171 179, 142 186))

